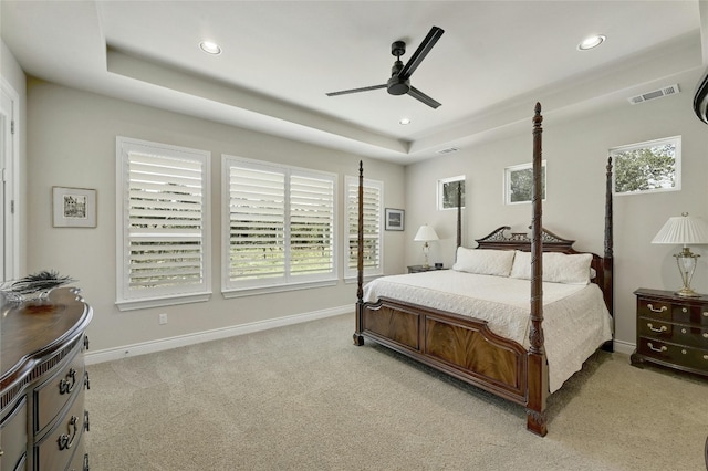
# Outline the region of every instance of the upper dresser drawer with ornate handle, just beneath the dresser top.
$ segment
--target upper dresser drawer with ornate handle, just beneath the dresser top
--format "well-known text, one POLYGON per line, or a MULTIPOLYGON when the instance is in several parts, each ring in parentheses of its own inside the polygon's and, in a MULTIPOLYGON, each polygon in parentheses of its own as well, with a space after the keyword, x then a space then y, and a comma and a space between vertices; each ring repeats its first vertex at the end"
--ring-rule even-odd
POLYGON ((84 386, 84 358, 77 355, 81 345, 76 345, 67 364, 46 381, 34 388, 34 433, 40 433, 60 414, 64 406, 84 386))

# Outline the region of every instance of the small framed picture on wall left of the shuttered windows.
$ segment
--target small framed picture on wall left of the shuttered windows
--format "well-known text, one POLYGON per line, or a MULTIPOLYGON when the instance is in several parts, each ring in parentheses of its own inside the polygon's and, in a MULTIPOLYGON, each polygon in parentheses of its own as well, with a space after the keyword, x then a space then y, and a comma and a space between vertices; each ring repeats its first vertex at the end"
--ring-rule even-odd
POLYGON ((96 190, 52 187, 52 207, 55 228, 96 227, 96 190))

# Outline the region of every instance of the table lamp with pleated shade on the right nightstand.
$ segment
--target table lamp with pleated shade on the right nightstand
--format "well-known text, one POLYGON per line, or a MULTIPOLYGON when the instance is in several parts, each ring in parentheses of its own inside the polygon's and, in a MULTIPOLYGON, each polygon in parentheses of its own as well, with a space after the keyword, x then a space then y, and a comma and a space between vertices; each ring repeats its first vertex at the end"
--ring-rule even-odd
POLYGON ((684 282, 684 287, 677 291, 676 294, 679 296, 700 296, 690 287, 690 281, 694 278, 698 262, 697 259, 700 255, 693 253, 687 245, 708 243, 708 222, 700 218, 689 218, 688 212, 668 218, 668 221, 666 221, 652 243, 684 245, 684 250, 674 255, 684 282))

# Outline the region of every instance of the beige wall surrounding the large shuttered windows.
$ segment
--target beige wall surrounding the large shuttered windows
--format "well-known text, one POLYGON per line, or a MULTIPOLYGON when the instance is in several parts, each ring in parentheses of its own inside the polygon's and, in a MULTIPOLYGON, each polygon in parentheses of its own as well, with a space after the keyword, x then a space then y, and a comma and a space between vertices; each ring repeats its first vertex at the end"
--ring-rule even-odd
MULTIPOLYGON (((341 189, 344 175, 356 175, 360 156, 37 80, 28 84, 28 169, 32 176, 28 184, 28 271, 55 269, 80 280, 77 284, 84 297, 94 308, 94 320, 88 327, 93 350, 342 306, 351 306, 353 312, 356 285, 344 283, 342 276, 333 287, 231 300, 221 296, 219 174, 221 154, 230 154, 336 172, 341 189), (115 137, 118 135, 211 153, 214 295, 209 302, 131 312, 116 308, 115 137), (52 186, 97 189, 97 228, 52 228, 52 186), (167 325, 158 325, 159 313, 168 313, 167 325)), ((385 206, 403 207, 404 168, 366 158, 364 165, 368 178, 384 181, 385 206)), ((340 207, 343 205, 340 190, 340 207)), ((340 218, 340 224, 342 229, 344 218, 340 218)), ((402 241, 400 232, 386 233, 387 273, 403 269, 402 241)), ((352 320, 352 332, 353 328, 352 320)))

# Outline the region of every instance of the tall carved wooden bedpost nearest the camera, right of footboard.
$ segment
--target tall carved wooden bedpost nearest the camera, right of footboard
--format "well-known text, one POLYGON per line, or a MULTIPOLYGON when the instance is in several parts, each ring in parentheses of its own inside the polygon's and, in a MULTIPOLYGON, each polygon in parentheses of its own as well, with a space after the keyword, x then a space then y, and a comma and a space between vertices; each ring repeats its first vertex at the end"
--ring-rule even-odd
POLYGON ((549 391, 549 367, 543 346, 543 221, 541 186, 542 146, 541 104, 535 104, 533 116, 533 190, 531 221, 531 328, 529 332, 529 396, 527 401, 527 429, 544 437, 546 429, 546 398, 549 391))

